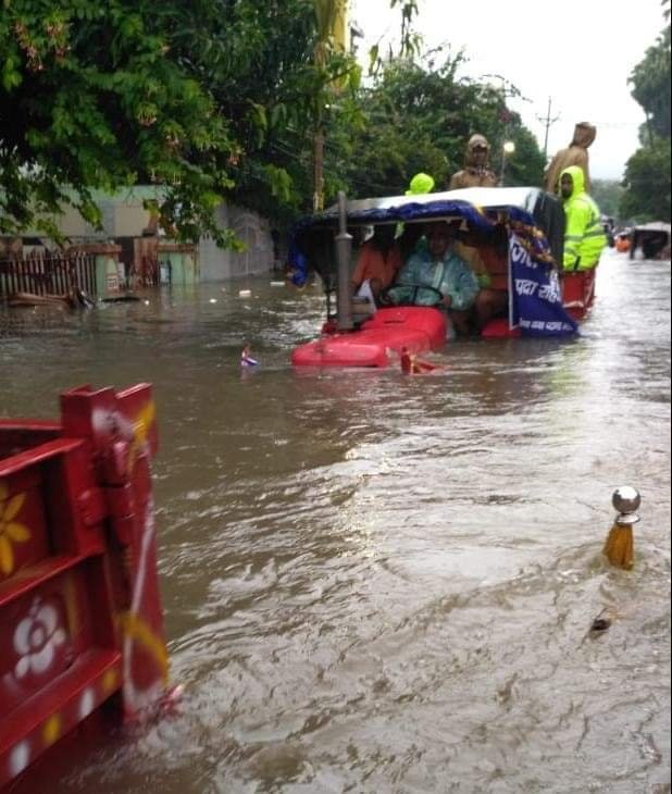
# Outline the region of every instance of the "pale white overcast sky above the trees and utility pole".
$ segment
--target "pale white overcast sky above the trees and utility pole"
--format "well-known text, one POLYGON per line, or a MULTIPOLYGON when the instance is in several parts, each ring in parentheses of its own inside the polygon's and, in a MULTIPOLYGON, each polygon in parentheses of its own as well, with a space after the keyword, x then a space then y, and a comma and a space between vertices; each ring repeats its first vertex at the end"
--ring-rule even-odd
MULTIPOLYGON (((400 12, 390 0, 351 0, 351 16, 364 33, 360 52, 398 38, 400 12)), ((464 49, 462 76, 499 74, 531 101, 510 100, 544 147, 548 99, 551 116, 548 154, 568 146, 574 124, 597 126, 590 171, 619 179, 638 148, 642 108, 627 78, 663 29, 660 0, 418 0, 415 28, 426 48, 449 44, 464 49)), ((498 84, 497 80, 493 80, 498 84)))

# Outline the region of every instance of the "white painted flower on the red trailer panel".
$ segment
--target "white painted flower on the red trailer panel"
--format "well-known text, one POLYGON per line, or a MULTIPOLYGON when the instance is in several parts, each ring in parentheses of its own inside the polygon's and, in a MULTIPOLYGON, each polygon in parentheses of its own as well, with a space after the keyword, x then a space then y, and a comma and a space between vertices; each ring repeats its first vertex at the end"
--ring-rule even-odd
POLYGON ((14 632, 14 650, 21 656, 14 673, 18 680, 29 672, 42 675, 52 666, 57 649, 66 640, 65 630, 60 624, 57 609, 42 603, 33 601, 28 617, 24 618, 14 632))

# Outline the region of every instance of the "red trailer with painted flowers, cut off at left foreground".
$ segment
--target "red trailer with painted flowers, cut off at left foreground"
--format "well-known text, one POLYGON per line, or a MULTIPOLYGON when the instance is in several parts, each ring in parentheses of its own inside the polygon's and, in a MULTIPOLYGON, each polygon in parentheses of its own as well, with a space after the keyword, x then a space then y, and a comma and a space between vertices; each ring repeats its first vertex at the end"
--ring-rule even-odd
POLYGON ((0 421, 0 789, 104 707, 166 694, 151 388, 88 386, 0 421))

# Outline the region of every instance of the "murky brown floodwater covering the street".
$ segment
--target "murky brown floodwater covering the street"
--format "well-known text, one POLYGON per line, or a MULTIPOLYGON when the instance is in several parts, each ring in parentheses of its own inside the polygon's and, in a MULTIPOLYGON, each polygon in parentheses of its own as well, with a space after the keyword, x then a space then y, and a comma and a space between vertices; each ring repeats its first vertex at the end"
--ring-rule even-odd
POLYGON ((184 700, 51 794, 670 792, 670 263, 608 252, 580 339, 423 377, 294 371, 324 299, 270 281, 0 308, 0 415, 84 383, 158 405, 184 700), (632 572, 600 556, 622 484, 632 572))

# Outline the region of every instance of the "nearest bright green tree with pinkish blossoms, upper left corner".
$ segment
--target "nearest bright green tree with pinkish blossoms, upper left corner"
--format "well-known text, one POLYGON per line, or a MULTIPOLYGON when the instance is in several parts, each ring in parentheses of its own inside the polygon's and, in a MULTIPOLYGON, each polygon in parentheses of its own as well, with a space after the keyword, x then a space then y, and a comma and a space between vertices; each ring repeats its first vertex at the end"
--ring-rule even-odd
POLYGON ((53 233, 45 218, 70 202, 98 224, 91 191, 138 182, 165 186, 183 235, 211 225, 234 141, 173 50, 175 18, 123 0, 4 3, 0 231, 53 233))

